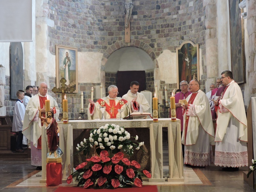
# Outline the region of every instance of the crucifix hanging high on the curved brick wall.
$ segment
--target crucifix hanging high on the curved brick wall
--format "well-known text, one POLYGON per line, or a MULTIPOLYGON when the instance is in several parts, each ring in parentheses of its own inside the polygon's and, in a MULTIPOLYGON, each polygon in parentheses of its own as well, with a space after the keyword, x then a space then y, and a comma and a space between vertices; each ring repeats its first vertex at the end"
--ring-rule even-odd
POLYGON ((124 3, 124 13, 125 15, 125 24, 124 24, 124 42, 130 43, 131 42, 131 35, 130 35, 130 19, 132 17, 132 11, 133 11, 133 3, 132 0, 125 0, 124 3))

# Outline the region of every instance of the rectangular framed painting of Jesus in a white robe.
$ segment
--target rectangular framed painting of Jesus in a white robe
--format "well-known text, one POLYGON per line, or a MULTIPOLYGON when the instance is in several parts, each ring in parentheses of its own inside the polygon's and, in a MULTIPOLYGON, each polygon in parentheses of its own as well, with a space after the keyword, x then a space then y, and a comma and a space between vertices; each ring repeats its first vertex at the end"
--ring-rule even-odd
POLYGON ((73 87, 78 92, 77 48, 56 45, 56 87, 59 88, 61 78, 66 79, 65 86, 73 87))

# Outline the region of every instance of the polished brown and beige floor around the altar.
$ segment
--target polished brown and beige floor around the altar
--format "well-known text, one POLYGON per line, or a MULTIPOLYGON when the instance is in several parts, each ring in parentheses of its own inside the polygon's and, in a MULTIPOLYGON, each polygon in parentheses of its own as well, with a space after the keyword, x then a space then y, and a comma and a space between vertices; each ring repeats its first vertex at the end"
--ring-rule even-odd
MULTIPOLYGON (((240 168, 236 172, 223 172, 220 167, 211 165, 206 168, 184 167, 184 182, 162 182, 143 185, 157 185, 159 192, 253 192, 246 182, 243 181, 243 171, 240 168)), ((164 176, 168 175, 168 167, 164 166, 164 176)), ((54 192, 57 187, 46 187, 40 184, 41 171, 32 167, 30 160, 10 161, 0 160, 0 191, 1 192, 54 192)), ((63 183, 61 186, 66 186, 63 183)), ((69 185, 70 186, 70 185, 69 185)))

